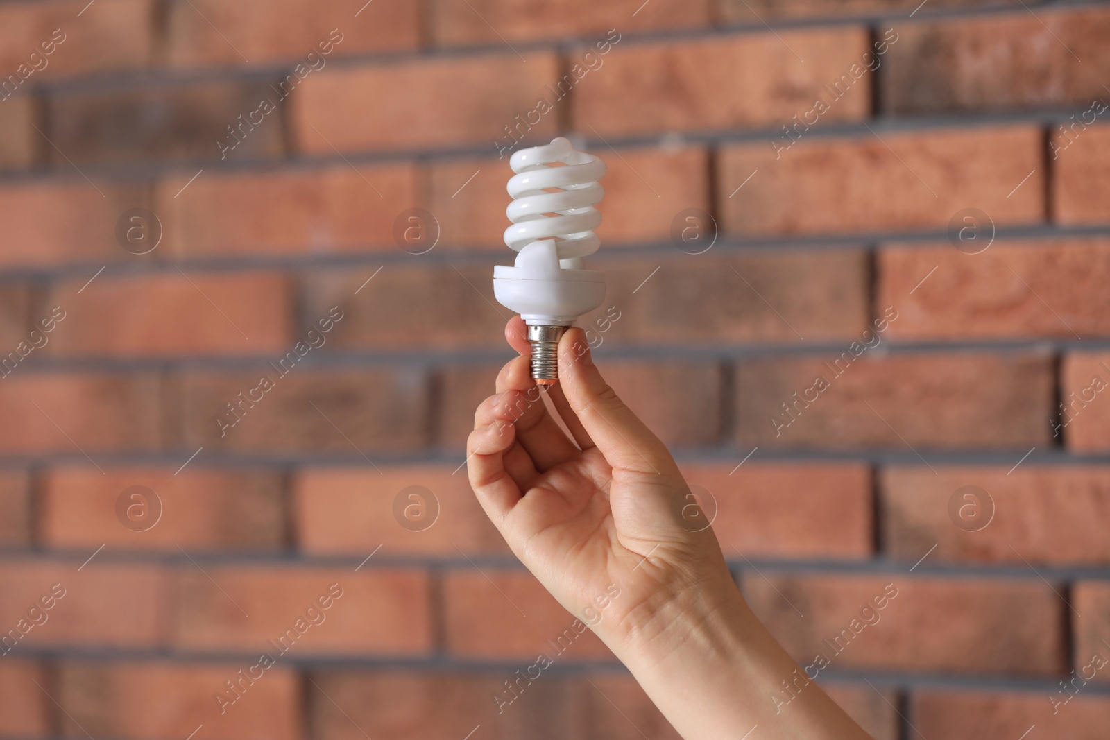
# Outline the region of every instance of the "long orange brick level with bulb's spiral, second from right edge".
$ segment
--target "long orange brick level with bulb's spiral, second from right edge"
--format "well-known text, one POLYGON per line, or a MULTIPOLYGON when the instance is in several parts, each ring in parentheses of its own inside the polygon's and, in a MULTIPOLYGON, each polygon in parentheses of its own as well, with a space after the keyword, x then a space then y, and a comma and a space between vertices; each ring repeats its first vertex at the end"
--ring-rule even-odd
POLYGON ((971 206, 998 226, 1039 223, 1042 146, 1035 126, 803 138, 777 154, 774 144, 738 144, 722 154, 722 229, 737 236, 945 229, 971 206))

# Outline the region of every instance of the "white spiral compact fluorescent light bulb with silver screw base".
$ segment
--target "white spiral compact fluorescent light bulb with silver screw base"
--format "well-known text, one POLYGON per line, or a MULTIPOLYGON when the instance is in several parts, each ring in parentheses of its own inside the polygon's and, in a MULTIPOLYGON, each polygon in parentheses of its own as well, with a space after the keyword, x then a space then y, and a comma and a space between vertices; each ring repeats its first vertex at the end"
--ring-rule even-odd
POLYGON ((605 275, 585 270, 582 260, 601 245, 594 229, 602 214, 594 205, 605 197, 597 182, 605 163, 559 136, 522 149, 508 165, 516 174, 508 181, 514 200, 505 213, 513 225, 505 230, 505 244, 519 254, 512 267, 494 267, 493 292, 524 318, 532 377, 551 385, 558 381, 559 338, 605 298, 605 275))

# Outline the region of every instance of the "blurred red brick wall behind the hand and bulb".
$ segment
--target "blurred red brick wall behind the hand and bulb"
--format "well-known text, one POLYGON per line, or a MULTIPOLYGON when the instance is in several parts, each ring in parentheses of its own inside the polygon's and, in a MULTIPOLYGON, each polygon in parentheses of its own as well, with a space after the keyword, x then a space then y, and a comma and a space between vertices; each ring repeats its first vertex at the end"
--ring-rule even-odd
POLYGON ((809 675, 1108 737, 1108 85, 1106 2, 0 2, 0 737, 676 737, 463 467, 558 134, 595 358, 809 675))

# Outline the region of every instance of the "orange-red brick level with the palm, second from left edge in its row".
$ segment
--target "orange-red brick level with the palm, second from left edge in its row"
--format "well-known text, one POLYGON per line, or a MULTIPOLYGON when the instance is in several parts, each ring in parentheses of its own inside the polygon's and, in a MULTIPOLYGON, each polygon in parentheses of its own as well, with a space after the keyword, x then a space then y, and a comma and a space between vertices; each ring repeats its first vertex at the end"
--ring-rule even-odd
MULTIPOLYGON (((194 464, 195 465, 195 464, 194 464)), ((91 467, 50 470, 42 484, 41 531, 52 547, 112 549, 273 549, 285 531, 281 478, 274 474, 212 470, 190 466, 108 469, 91 467), (144 516, 159 504, 123 493, 145 486, 161 504, 161 517, 142 519, 134 531, 118 518, 117 500, 138 504, 144 516)), ((138 515, 137 509, 137 515, 138 515)))

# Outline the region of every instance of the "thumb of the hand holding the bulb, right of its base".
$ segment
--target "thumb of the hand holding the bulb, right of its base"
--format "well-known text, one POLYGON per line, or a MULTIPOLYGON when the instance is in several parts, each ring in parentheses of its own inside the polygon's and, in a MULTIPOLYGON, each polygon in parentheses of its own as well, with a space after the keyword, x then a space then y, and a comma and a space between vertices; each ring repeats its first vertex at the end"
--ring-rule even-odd
POLYGON ((678 475, 666 445, 602 377, 581 328, 572 328, 559 341, 558 375, 571 409, 609 465, 628 472, 678 475))

